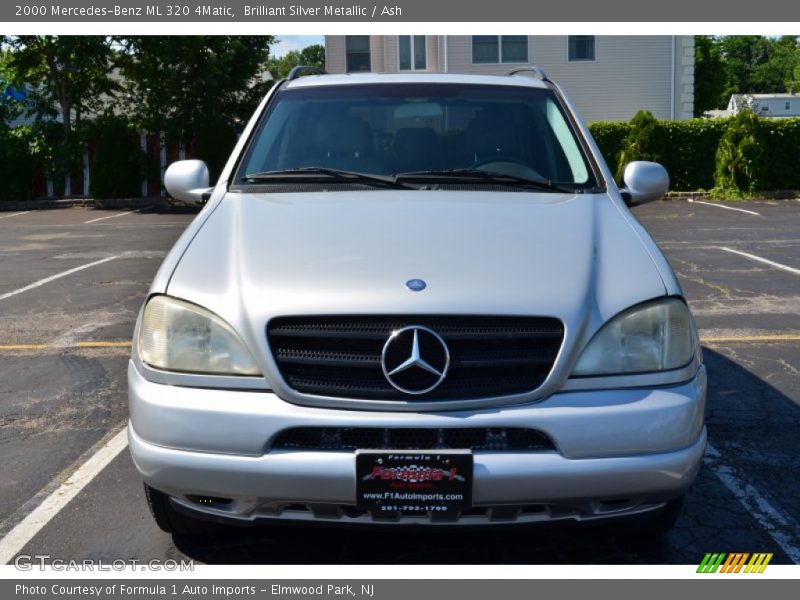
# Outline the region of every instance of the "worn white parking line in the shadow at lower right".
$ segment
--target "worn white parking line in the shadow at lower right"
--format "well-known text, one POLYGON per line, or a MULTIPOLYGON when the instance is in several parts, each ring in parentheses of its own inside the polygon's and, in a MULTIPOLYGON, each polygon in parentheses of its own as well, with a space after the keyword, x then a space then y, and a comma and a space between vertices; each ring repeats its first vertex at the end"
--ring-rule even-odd
POLYGON ((706 446, 703 462, 711 469, 728 491, 750 513, 759 525, 769 533, 794 564, 800 564, 800 548, 794 545, 792 534, 800 531, 800 526, 790 517, 781 514, 757 489, 741 481, 734 470, 721 461, 722 455, 711 444, 706 446))

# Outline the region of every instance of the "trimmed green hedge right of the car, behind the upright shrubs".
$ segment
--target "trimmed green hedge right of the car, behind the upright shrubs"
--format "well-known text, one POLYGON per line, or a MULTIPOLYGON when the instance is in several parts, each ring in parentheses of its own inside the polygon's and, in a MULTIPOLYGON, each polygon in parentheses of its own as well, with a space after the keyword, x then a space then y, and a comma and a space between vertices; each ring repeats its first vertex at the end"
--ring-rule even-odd
MULTIPOLYGON (((674 191, 710 190, 716 186, 717 150, 731 118, 659 119, 664 138, 662 164, 674 191)), ((757 141, 763 150, 756 190, 800 190, 800 118, 759 119, 757 141)), ((612 173, 631 131, 630 123, 598 121, 589 124, 612 173)))

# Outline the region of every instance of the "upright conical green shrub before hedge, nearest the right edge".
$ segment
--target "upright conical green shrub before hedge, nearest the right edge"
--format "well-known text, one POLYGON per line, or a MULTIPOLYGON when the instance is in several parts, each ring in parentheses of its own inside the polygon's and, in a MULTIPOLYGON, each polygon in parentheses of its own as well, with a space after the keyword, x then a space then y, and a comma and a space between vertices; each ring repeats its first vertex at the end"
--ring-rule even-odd
POLYGON ((745 110, 731 120, 716 154, 714 183, 719 194, 741 197, 763 189, 763 146, 761 119, 755 113, 745 110))

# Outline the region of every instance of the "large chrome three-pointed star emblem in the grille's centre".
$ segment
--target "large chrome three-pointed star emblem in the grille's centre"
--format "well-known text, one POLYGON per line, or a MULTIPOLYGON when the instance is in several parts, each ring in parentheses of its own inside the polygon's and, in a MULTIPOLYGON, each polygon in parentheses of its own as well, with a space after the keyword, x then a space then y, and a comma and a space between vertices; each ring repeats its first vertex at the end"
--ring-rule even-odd
POLYGON ((393 332, 381 354, 386 380, 405 394, 425 394, 439 386, 450 368, 450 352, 442 337, 422 325, 393 332))

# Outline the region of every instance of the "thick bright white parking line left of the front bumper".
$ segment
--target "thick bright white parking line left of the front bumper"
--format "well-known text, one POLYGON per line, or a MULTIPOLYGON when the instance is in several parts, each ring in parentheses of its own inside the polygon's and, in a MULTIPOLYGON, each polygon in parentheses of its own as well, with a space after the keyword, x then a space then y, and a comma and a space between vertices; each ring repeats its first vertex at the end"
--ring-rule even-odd
POLYGON ((81 465, 69 479, 50 494, 39 506, 20 521, 0 540, 0 565, 8 564, 33 537, 55 517, 70 500, 77 496, 92 479, 114 460, 128 445, 127 429, 123 427, 111 440, 81 465))

